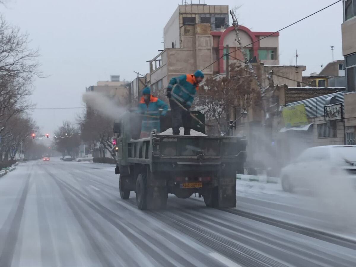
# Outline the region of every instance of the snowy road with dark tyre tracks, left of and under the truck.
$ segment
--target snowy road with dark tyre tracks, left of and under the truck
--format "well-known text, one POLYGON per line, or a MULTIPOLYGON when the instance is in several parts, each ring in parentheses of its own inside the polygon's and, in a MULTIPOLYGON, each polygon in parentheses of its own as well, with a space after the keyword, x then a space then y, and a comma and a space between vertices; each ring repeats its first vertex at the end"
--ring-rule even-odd
POLYGON ((355 266, 345 245, 169 197, 142 212, 114 167, 33 161, 0 178, 0 266, 355 266))

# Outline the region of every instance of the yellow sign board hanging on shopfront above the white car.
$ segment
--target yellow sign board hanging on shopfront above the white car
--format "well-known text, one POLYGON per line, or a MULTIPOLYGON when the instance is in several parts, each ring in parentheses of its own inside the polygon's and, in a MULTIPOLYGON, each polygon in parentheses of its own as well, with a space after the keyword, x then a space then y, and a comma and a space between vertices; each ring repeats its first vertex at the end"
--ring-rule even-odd
POLYGON ((282 111, 284 125, 289 127, 302 126, 308 124, 307 113, 304 104, 292 107, 285 107, 282 111))

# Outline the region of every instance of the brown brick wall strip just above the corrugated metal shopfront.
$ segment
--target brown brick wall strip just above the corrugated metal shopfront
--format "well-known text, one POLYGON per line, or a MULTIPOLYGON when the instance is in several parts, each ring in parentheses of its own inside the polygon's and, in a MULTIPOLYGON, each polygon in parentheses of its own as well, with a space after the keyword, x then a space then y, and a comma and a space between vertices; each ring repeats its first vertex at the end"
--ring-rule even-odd
POLYGON ((331 88, 288 88, 284 89, 285 103, 297 102, 317 96, 323 96, 328 94, 333 94, 341 89, 331 89, 331 88))

